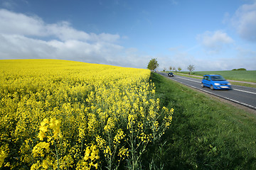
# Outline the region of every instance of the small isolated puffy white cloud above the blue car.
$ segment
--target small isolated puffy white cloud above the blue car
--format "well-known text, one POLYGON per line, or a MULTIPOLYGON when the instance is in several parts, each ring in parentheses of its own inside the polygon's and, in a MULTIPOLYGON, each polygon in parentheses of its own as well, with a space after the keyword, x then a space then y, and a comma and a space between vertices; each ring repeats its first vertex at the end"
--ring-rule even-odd
POLYGON ((208 50, 210 54, 220 52, 225 45, 233 43, 234 41, 227 33, 221 30, 216 30, 215 32, 206 31, 203 34, 197 35, 197 40, 203 47, 206 47, 206 50, 208 50))

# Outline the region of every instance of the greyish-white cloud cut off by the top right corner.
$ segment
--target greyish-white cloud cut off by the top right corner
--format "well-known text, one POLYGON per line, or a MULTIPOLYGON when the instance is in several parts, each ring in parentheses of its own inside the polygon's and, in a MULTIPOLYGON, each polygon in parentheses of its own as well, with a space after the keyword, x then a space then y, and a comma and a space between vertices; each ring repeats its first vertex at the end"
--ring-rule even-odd
MULTIPOLYGON (((226 18, 228 14, 226 14, 226 18)), ((228 20, 244 40, 256 42, 256 1, 244 4, 228 20)))

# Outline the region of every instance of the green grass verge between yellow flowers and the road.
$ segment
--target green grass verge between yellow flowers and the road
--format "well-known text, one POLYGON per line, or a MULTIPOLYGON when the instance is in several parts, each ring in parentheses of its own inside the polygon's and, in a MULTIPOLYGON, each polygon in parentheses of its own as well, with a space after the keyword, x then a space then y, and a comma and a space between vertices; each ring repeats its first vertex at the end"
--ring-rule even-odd
MULTIPOLYGON (((154 168, 256 169, 256 115, 152 74, 161 106, 174 108, 154 168)), ((148 153, 152 154, 152 152, 148 153)))

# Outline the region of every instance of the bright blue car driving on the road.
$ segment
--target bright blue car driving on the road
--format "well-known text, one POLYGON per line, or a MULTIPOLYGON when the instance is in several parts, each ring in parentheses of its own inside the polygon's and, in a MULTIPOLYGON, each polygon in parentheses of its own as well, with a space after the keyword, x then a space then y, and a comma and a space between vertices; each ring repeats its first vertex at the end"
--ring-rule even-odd
POLYGON ((210 89, 232 89, 230 82, 226 81, 218 74, 206 74, 202 79, 202 87, 210 87, 210 89))

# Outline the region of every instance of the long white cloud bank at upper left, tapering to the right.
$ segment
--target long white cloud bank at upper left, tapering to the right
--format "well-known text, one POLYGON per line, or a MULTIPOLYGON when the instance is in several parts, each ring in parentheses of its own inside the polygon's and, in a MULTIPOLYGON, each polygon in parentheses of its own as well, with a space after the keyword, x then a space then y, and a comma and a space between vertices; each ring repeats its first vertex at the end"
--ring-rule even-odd
POLYGON ((0 9, 0 33, 17 34, 24 36, 59 38, 60 40, 83 40, 83 41, 104 41, 116 42, 119 35, 101 33, 85 33, 75 30, 70 23, 62 21, 59 23, 44 23, 38 16, 26 16, 23 13, 14 13, 5 9, 0 9))

